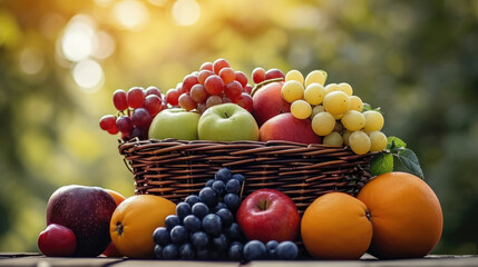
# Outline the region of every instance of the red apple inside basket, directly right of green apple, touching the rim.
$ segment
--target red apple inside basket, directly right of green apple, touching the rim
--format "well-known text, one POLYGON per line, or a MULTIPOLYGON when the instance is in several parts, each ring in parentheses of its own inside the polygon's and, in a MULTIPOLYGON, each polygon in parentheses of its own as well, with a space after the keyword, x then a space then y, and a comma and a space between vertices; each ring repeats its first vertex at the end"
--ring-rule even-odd
POLYGON ((297 119, 292 113, 277 115, 261 126, 260 140, 284 140, 301 144, 321 144, 322 138, 312 130, 309 119, 297 119))

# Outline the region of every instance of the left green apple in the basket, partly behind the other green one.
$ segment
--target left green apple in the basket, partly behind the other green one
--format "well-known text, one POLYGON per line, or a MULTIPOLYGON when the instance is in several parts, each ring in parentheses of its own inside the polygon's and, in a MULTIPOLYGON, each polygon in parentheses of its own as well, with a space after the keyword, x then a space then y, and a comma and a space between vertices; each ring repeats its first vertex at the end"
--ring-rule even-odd
POLYGON ((162 110, 149 127, 149 138, 178 140, 197 140, 197 123, 199 113, 182 108, 162 110))

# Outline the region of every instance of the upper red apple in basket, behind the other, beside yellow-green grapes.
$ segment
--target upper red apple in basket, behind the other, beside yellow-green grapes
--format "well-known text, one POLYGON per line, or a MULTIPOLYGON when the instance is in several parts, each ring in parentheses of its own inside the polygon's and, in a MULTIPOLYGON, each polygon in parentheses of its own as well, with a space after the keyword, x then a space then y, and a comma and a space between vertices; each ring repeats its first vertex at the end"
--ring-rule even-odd
POLYGON ((252 112, 257 125, 270 118, 291 111, 291 103, 282 99, 281 89, 284 82, 272 82, 261 87, 252 97, 252 112))

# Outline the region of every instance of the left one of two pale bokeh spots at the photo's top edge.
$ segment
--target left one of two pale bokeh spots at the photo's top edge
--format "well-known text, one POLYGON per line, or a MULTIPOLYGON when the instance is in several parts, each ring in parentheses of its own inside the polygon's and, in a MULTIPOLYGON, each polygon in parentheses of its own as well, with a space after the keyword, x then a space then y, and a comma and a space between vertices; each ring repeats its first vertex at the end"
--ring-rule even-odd
POLYGON ((119 24, 128 30, 140 30, 149 20, 145 4, 136 0, 119 1, 115 3, 113 11, 119 24))

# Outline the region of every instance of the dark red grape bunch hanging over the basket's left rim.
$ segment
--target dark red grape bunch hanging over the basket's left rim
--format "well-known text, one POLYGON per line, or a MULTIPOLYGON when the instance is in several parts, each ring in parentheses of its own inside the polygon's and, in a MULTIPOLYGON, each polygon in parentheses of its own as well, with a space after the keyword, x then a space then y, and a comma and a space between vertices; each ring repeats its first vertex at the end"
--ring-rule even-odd
POLYGON ((113 93, 113 103, 118 112, 103 116, 99 127, 111 135, 121 132, 123 140, 136 137, 146 140, 153 118, 167 108, 163 99, 156 87, 133 87, 128 92, 118 89, 113 93))

